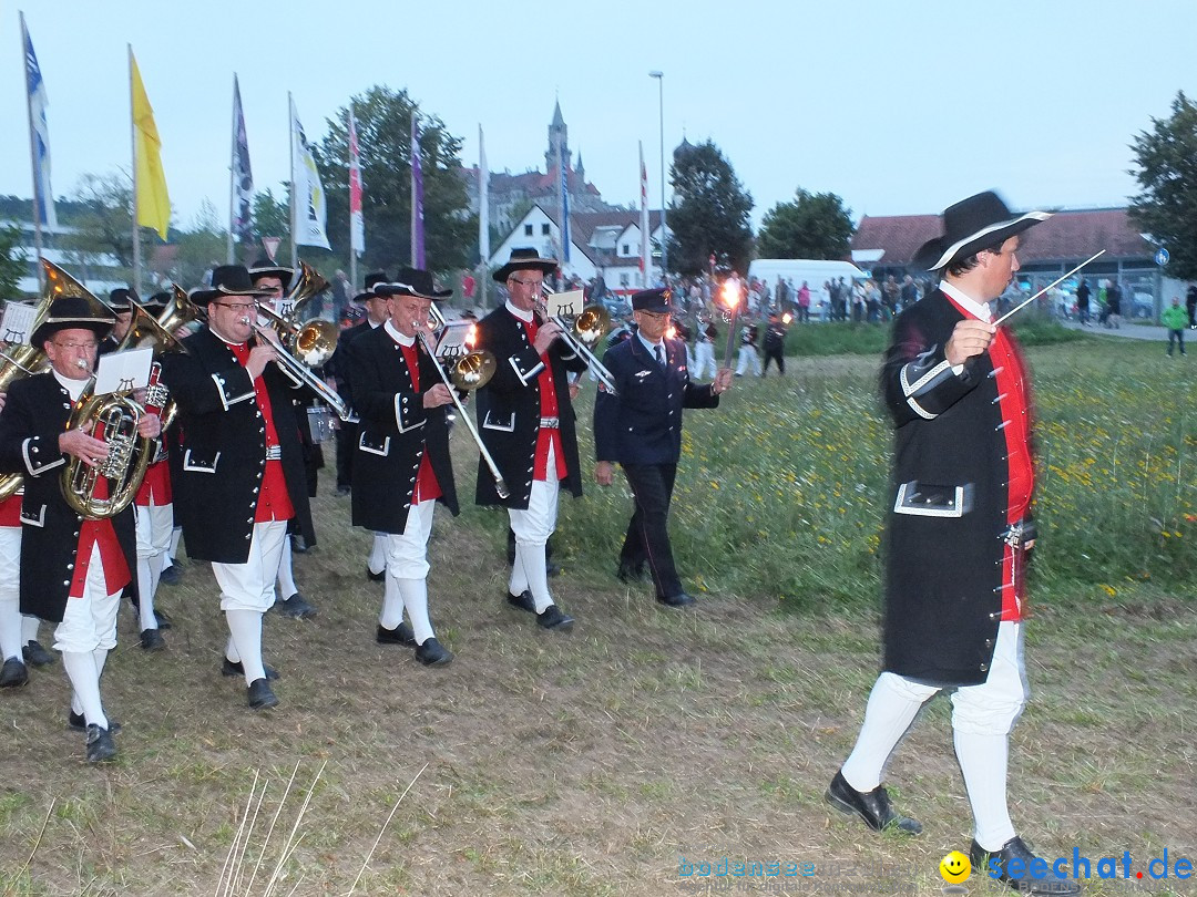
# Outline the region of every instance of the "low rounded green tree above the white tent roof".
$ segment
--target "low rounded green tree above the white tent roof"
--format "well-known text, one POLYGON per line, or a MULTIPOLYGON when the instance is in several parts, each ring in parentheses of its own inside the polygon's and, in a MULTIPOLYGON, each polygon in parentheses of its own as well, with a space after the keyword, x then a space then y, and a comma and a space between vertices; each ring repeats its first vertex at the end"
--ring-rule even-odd
POLYGON ((844 258, 852 239, 851 209, 833 193, 801 187, 792 202, 779 202, 761 221, 757 254, 761 258, 844 258))

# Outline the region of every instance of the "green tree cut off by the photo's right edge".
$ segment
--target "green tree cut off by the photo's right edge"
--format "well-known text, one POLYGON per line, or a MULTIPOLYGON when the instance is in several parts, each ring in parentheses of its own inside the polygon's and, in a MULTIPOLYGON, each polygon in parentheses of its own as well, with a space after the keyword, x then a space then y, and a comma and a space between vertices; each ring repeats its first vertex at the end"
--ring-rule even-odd
POLYGON ((1172 116, 1153 118, 1130 147, 1130 173, 1142 188, 1131 197, 1131 220, 1167 246, 1169 276, 1197 280, 1197 105, 1178 92, 1172 116))

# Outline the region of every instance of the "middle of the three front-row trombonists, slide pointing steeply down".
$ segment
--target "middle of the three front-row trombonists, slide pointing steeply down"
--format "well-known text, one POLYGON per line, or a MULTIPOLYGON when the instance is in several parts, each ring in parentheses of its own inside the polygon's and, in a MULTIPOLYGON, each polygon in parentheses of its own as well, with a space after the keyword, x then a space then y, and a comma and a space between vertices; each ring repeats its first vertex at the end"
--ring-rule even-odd
POLYGON ((358 336, 344 356, 344 372, 361 419, 353 459, 353 523, 385 533, 387 585, 377 640, 415 645, 426 666, 452 660, 429 622, 427 543, 437 501, 457 514, 449 458, 449 388, 420 344, 429 328, 429 304, 439 292, 432 275, 400 268, 394 283, 376 292, 389 297, 390 317, 358 336), (403 609, 411 629, 403 626, 403 609))

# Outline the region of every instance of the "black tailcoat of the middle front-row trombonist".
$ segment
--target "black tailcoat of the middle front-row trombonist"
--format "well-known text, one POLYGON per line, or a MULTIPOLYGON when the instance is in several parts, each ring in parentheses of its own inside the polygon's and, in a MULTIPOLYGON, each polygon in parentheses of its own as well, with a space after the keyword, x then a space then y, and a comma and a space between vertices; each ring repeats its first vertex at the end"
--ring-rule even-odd
POLYGON ((424 393, 440 383, 432 359, 419 358, 420 391, 385 327, 361 334, 342 356, 342 370, 361 417, 353 458, 353 525, 401 533, 424 452, 440 487, 440 502, 457 514, 457 492, 449 458, 448 405, 424 407, 424 393))

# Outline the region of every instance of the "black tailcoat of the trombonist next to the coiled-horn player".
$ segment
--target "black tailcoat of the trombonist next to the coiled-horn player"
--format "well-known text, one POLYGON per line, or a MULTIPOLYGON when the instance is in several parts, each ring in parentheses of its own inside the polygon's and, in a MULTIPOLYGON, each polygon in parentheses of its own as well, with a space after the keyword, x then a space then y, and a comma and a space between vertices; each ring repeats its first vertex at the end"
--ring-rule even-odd
MULTIPOLYGON (((176 520, 187 555, 200 561, 245 563, 257 495, 266 469, 266 425, 254 384, 229 344, 202 328, 183 341, 187 353, 163 356, 163 380, 178 403, 183 447, 172 481, 176 520)), ((279 437, 282 475, 304 538, 315 543, 294 384, 278 365, 262 372, 279 437)))

